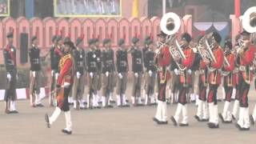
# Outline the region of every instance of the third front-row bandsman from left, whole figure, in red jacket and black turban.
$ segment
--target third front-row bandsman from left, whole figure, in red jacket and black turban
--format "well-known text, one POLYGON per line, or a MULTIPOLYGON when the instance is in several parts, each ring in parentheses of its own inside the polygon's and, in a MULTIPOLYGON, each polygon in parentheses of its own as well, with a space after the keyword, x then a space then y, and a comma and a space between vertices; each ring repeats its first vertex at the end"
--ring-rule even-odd
POLYGON ((218 128, 218 105, 217 105, 217 90, 221 84, 221 73, 220 70, 223 66, 223 50, 219 43, 222 41, 222 37, 214 32, 210 34, 210 49, 214 54, 216 62, 205 60, 206 65, 210 67, 209 73, 209 93, 208 93, 208 106, 210 120, 208 122, 209 128, 218 128))

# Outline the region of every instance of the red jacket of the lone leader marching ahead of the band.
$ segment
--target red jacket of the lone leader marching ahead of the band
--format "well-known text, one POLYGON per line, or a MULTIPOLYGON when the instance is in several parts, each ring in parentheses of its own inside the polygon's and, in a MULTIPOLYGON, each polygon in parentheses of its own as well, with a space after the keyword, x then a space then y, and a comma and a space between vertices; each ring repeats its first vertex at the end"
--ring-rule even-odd
POLYGON ((64 82, 73 84, 74 78, 74 60, 71 54, 66 54, 61 58, 59 62, 60 74, 58 76, 58 85, 63 85, 64 82))

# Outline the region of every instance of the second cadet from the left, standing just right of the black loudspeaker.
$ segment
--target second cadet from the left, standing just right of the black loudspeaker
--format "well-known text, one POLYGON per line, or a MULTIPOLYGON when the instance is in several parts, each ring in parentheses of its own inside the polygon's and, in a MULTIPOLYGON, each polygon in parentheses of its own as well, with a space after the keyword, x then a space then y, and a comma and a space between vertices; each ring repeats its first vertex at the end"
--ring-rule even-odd
POLYGON ((40 50, 38 49, 38 38, 32 37, 32 48, 30 55, 30 106, 42 107, 40 98, 40 79, 41 79, 41 60, 40 50))

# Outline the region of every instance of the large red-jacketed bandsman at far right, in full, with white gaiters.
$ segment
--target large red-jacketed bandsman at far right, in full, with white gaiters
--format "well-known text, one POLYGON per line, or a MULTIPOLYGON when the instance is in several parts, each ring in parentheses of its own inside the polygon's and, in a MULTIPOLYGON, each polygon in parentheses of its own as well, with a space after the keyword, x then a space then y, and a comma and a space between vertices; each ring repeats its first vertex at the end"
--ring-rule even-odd
POLYGON ((254 61, 255 46, 250 42, 250 33, 243 31, 241 37, 243 46, 242 50, 238 51, 240 61, 238 77, 240 109, 236 126, 239 130, 250 130, 248 92, 250 90, 250 82, 253 79, 253 71, 250 70, 250 66, 254 61))

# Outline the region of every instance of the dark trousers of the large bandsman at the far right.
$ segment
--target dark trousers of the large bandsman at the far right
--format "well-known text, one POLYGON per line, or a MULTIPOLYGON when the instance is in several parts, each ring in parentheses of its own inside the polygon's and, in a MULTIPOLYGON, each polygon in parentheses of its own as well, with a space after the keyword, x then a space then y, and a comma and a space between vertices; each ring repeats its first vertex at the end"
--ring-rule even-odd
POLYGON ((242 73, 239 73, 239 102, 240 107, 248 107, 248 93, 250 90, 250 84, 246 83, 242 77, 242 73))

